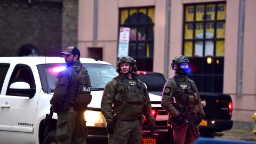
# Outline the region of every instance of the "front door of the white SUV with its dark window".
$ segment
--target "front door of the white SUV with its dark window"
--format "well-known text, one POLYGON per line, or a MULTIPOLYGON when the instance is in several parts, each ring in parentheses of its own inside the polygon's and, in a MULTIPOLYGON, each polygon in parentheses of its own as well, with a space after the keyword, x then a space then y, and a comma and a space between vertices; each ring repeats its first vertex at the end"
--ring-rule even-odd
MULTIPOLYGON (((2 73, 2 70, 1 70, 2 73)), ((11 72, 9 72, 11 73, 11 72)), ((23 84, 26 84, 23 83, 23 84)), ((16 83, 17 84, 17 83, 16 83)), ((18 83, 19 84, 19 83, 18 83)), ((34 125, 36 123, 36 106, 38 91, 31 68, 27 65, 18 64, 14 67, 12 74, 5 78, 1 92, 1 117, 0 117, 0 139, 1 143, 34 143, 34 125), (18 85, 18 91, 10 89, 15 82, 26 82, 32 91, 31 94, 21 92, 23 85, 18 85)), ((17 85, 16 85, 17 86, 17 85)))

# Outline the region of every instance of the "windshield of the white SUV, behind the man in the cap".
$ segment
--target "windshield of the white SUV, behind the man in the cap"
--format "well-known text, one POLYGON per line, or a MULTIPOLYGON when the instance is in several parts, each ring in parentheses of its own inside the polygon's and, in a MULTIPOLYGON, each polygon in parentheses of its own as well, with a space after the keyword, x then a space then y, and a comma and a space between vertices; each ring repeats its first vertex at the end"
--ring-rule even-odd
MULTIPOLYGON (((88 71, 92 90, 103 90, 105 85, 118 75, 116 68, 111 65, 82 63, 88 71)), ((53 93, 55 89, 55 81, 59 71, 66 69, 66 63, 51 63, 37 66, 41 79, 43 91, 45 93, 53 93), (47 77, 45 76, 47 75, 47 77)))

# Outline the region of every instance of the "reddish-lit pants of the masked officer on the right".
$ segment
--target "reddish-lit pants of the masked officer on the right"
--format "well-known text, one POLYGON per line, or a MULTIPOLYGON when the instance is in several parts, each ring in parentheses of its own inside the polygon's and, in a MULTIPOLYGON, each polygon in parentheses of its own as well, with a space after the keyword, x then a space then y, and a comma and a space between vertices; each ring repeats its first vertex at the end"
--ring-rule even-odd
MULTIPOLYGON (((196 126, 196 129, 199 129, 198 126, 196 126)), ((175 144, 193 143, 195 141, 193 132, 187 123, 181 125, 173 123, 172 130, 175 144)))

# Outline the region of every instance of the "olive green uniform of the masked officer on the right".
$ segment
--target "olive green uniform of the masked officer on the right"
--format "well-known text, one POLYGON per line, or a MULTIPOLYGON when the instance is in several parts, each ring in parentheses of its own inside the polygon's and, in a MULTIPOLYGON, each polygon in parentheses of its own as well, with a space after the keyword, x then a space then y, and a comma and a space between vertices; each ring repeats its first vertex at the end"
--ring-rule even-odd
POLYGON ((172 124, 175 143, 190 143, 193 142, 195 138, 189 124, 183 123, 178 125, 173 123, 173 118, 178 117, 185 110, 186 106, 193 116, 200 114, 204 117, 205 114, 194 81, 187 78, 187 75, 178 74, 177 71, 174 77, 169 79, 164 85, 161 105, 170 115, 169 122, 172 124), (179 87, 174 77, 177 78, 180 83, 181 90, 183 91, 182 97, 185 97, 187 101, 186 104, 183 103, 180 98, 179 87), (184 94, 184 90, 187 90, 187 94, 184 94))

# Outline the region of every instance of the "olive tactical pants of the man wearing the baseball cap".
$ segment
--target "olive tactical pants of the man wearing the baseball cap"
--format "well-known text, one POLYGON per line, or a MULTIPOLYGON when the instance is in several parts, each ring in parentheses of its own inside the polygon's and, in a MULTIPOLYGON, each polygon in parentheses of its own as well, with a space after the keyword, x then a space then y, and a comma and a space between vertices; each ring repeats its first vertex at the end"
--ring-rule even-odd
POLYGON ((84 119, 84 112, 74 111, 70 107, 69 111, 62 111, 58 114, 56 135, 59 143, 86 144, 87 130, 84 119))

